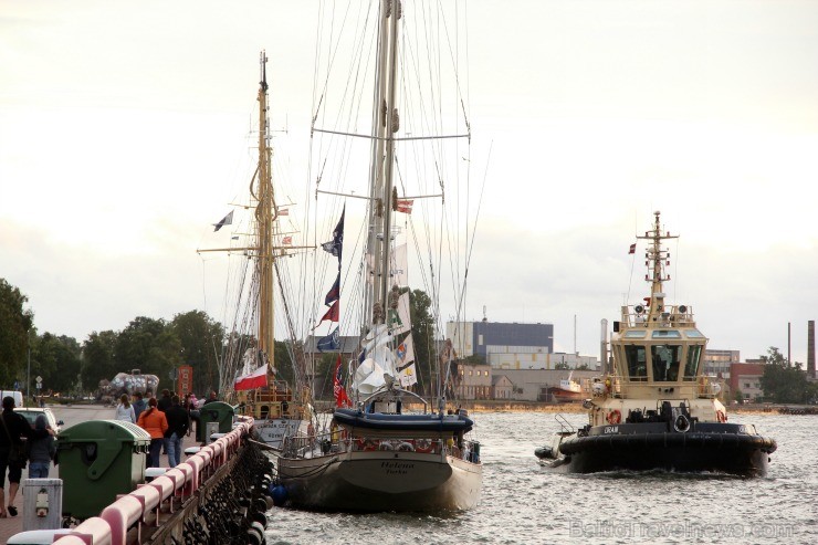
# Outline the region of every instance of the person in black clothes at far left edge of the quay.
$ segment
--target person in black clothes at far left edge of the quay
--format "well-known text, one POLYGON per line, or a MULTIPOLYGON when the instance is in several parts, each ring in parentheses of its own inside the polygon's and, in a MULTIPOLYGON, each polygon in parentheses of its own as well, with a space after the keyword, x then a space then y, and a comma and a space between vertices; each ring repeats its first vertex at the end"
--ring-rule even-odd
POLYGON ((0 518, 8 515, 17 516, 14 499, 20 488, 20 478, 22 476, 24 460, 10 461, 9 454, 12 449, 21 446, 22 439, 41 439, 49 434, 54 434, 51 430, 33 430, 25 420, 25 417, 14 412, 14 398, 9 396, 3 398, 3 412, 0 415, 0 518), (9 506, 6 507, 6 471, 9 471, 9 506))

